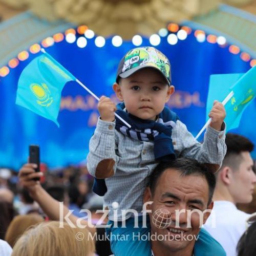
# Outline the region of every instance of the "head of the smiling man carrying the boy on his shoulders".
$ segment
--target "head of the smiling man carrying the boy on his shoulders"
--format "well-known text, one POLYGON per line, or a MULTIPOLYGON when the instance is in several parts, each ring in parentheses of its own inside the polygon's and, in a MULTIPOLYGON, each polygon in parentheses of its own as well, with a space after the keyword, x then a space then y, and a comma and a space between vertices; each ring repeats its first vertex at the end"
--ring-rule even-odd
POLYGON ((200 225, 205 223, 212 209, 215 185, 214 174, 193 159, 180 158, 160 163, 155 168, 144 194, 144 203, 153 201, 148 207, 152 210, 151 230, 175 237, 173 240, 157 241, 156 246, 167 251, 193 250, 200 225), (168 210, 172 215, 173 221, 167 228, 157 228, 152 222, 152 215, 159 209, 168 210), (203 214, 207 209, 208 212, 203 214))

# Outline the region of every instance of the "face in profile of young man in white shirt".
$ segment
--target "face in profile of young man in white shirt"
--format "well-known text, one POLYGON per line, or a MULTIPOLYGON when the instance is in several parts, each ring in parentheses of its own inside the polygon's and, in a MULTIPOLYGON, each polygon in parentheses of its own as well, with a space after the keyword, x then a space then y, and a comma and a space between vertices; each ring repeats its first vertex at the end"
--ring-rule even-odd
POLYGON ((253 160, 249 152, 242 152, 242 161, 237 170, 232 170, 230 176, 230 194, 234 203, 250 203, 256 176, 252 170, 253 160))

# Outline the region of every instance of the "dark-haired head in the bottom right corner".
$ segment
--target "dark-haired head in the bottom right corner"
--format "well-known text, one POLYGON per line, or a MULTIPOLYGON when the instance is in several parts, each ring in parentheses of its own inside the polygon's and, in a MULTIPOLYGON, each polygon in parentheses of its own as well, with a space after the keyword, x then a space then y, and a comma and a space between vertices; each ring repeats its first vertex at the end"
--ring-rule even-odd
POLYGON ((256 253, 256 212, 248 218, 247 223, 249 227, 238 242, 238 256, 254 256, 256 253))

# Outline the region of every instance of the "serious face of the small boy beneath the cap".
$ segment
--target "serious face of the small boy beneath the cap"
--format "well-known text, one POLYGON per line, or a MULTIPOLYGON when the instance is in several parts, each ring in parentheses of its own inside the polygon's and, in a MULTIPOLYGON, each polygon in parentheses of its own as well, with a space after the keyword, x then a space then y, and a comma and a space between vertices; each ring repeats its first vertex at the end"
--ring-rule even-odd
POLYGON ((113 89, 117 98, 124 101, 128 113, 148 120, 156 120, 174 93, 174 87, 168 86, 164 76, 153 68, 122 78, 119 84, 113 84, 113 89))

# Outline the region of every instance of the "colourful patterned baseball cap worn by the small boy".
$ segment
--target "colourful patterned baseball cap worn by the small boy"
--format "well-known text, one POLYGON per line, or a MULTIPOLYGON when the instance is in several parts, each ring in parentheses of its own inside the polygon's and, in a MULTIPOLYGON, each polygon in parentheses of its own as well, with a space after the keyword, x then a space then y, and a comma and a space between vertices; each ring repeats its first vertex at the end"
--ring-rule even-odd
POLYGON ((168 58, 150 46, 134 48, 123 56, 118 65, 116 82, 118 82, 119 77, 127 78, 138 70, 148 67, 160 71, 170 85, 170 62, 168 58))

